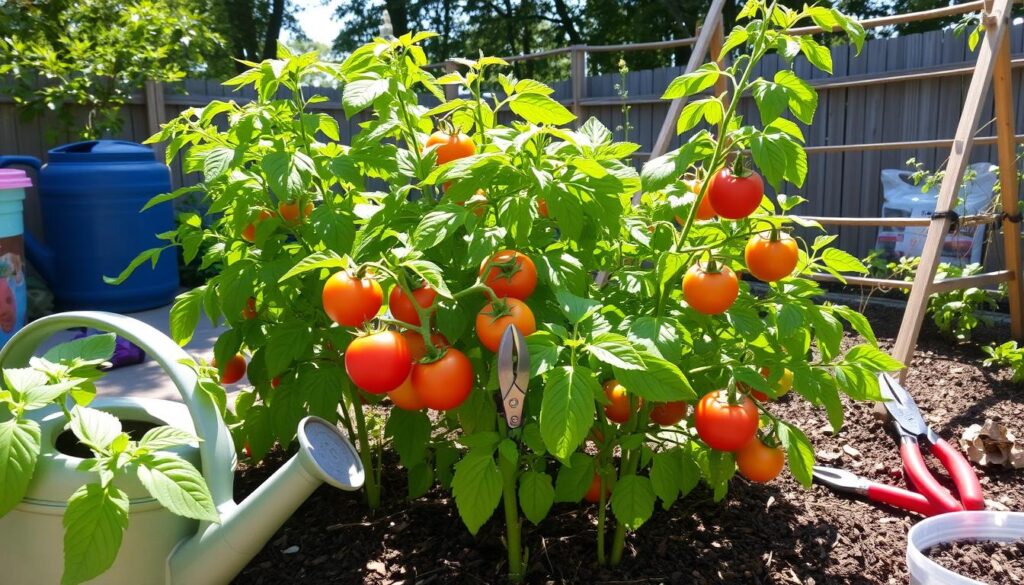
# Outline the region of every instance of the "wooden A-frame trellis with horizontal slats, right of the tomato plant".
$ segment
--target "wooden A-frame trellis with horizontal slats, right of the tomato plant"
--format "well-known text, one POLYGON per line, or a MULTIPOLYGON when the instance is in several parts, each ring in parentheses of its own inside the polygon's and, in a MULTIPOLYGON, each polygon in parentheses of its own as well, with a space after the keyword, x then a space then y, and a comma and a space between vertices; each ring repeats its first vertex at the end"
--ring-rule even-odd
MULTIPOLYGON (((931 295, 951 290, 962 290, 971 287, 985 287, 1007 283, 1010 299, 1010 330, 1014 337, 1024 334, 1024 287, 1020 278, 1021 270, 1021 213, 1018 199, 1017 153, 1018 137, 1014 128, 1013 89, 1011 85, 1010 58, 1010 15, 1014 0, 984 0, 968 2, 935 10, 925 10, 908 14, 898 14, 883 18, 862 20, 865 29, 884 27, 899 23, 909 23, 929 18, 938 18, 954 14, 980 11, 984 17, 985 34, 978 50, 978 60, 971 75, 964 110, 956 126, 956 133, 951 140, 934 140, 935 147, 949 147, 950 153, 946 164, 946 172, 939 187, 936 210, 931 217, 808 217, 822 225, 856 225, 856 226, 911 226, 927 225, 928 235, 925 240, 921 263, 918 265, 913 282, 850 277, 848 284, 864 287, 894 287, 910 289, 903 322, 900 325, 893 357, 905 366, 900 376, 906 377, 908 367, 913 359, 918 345, 918 337, 925 320, 928 300, 931 295), (995 110, 994 138, 975 138, 984 99, 989 86, 995 110), (974 215, 957 218, 954 207, 959 192, 964 172, 967 170, 971 149, 978 141, 996 144, 999 163, 1000 198, 1002 212, 999 214, 974 215), (935 280, 936 268, 945 243, 945 237, 956 224, 1001 224, 1002 238, 1006 247, 1006 268, 970 277, 935 280)), ((705 61, 708 49, 713 47, 714 32, 720 30, 722 24, 721 7, 723 2, 716 0, 709 10, 705 20, 705 29, 698 35, 693 46, 693 53, 686 68, 686 73, 695 71, 705 61)), ((794 29, 791 34, 812 35, 823 32, 817 27, 794 29)), ((718 45, 721 46, 721 45, 718 45)), ((715 54, 715 53, 713 53, 715 54)), ((657 140, 651 152, 651 157, 666 153, 675 134, 676 119, 686 105, 686 98, 673 100, 669 116, 666 118, 657 140)), ((906 143, 856 144, 859 150, 888 150, 905 147, 906 143)), ((848 150, 849 145, 828 147, 834 150, 848 150)), ((836 280, 830 275, 816 275, 819 280, 836 280)))

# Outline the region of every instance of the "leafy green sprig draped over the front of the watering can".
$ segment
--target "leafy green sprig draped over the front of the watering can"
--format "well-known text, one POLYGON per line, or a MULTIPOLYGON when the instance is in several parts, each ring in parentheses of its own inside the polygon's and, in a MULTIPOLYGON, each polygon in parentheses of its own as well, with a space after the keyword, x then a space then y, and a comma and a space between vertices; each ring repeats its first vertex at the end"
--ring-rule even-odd
POLYGON ((99 369, 114 353, 113 333, 61 343, 29 368, 3 371, 0 407, 0 515, 25 497, 42 449, 39 423, 26 416, 52 405, 60 407, 68 428, 92 452, 79 470, 96 475, 68 500, 63 515, 62 584, 84 583, 110 569, 128 528, 128 496, 118 488, 135 473, 146 491, 175 514, 219 521, 203 475, 168 448, 198 440, 184 430, 158 426, 133 441, 110 413, 92 409, 99 369), (68 403, 73 406, 70 410, 68 403))

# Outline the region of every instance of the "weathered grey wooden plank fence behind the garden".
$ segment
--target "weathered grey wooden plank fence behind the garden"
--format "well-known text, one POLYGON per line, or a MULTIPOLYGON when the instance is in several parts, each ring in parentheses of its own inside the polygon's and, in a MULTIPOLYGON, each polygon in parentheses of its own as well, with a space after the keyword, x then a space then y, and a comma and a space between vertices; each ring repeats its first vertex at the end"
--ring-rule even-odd
MULTIPOLYGON (((1024 78, 1020 72, 1024 66, 1022 33, 1024 27, 1013 27, 1011 50, 1018 133, 1024 127, 1024 91, 1021 91, 1024 78)), ((673 43, 692 44, 687 40, 673 43)), ((547 56, 569 59, 569 71, 575 74, 572 79, 552 84, 553 97, 580 112, 584 120, 595 116, 609 128, 621 127, 624 124, 623 99, 615 91, 620 76, 584 78, 581 72, 586 71, 588 50, 588 47, 568 47, 547 56)), ((804 128, 809 147, 806 184, 801 190, 788 187, 785 191, 809 200, 802 214, 877 216, 883 200, 882 169, 904 168, 904 162, 910 157, 915 157, 927 168, 943 163, 962 112, 975 55, 967 48, 966 36, 956 37, 951 31, 871 40, 865 43, 860 55, 855 55, 852 47, 837 45, 831 48, 831 54, 833 76, 813 70, 802 57, 796 62, 798 74, 817 87, 819 101, 814 124, 804 128)), ((779 60, 775 56, 766 58, 761 74, 770 77, 780 67, 779 60)), ((638 166, 651 151, 668 112, 668 102, 660 99, 660 94, 682 69, 637 71, 627 76, 625 89, 629 92, 633 126, 629 139, 641 144, 635 159, 638 166)), ((337 90, 315 91, 327 96, 329 101, 313 108, 339 120, 342 139, 357 131, 361 119, 345 119, 337 90)), ((215 81, 204 80, 185 81, 179 87, 166 88, 162 94, 144 92, 125 108, 125 126, 119 137, 141 141, 153 132, 159 120, 169 119, 188 107, 214 99, 252 96, 246 92, 232 93, 215 81)), ((750 98, 744 98, 741 112, 750 119, 757 116, 750 98)), ((989 101, 983 119, 991 117, 989 101)), ((44 144, 44 129, 50 123, 46 118, 19 120, 13 105, 0 97, 0 154, 43 156, 45 149, 52 145, 44 144)), ((981 135, 992 135, 989 130, 991 128, 981 135)), ((623 137, 622 131, 617 131, 616 136, 623 137)), ((676 148, 679 139, 675 137, 670 149, 676 148)), ((992 142, 987 138, 979 140, 972 162, 994 162, 992 142)), ((173 165, 172 176, 176 185, 195 182, 198 178, 183 176, 179 162, 173 165)), ((40 210, 34 194, 30 195, 26 215, 28 227, 36 234, 41 233, 40 210)), ((874 245, 877 229, 840 226, 838 233, 840 247, 864 256, 874 245)), ((1000 266, 1001 244, 998 239, 995 242, 989 264, 1000 266)))

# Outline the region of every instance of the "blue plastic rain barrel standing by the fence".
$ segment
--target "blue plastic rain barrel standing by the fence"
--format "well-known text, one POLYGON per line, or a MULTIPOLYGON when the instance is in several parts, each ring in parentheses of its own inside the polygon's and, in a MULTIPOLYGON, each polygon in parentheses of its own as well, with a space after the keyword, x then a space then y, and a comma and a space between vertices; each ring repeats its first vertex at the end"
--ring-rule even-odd
POLYGON ((121 285, 103 282, 142 250, 161 246, 157 234, 175 227, 170 202, 139 213, 151 198, 171 191, 170 170, 152 149, 89 140, 53 149, 46 165, 0 157, 0 167, 11 165, 39 170, 46 245, 26 233, 26 251, 59 308, 131 312, 171 302, 178 289, 174 253, 161 254, 155 268, 142 264, 121 285))

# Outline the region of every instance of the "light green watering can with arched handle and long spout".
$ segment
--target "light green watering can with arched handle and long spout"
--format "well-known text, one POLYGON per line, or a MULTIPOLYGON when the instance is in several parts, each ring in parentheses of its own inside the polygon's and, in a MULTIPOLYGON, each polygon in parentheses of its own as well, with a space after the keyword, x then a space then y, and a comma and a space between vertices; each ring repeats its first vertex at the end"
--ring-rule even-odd
MULTIPOLYGON (((174 381, 184 405, 151 399, 97 398, 93 408, 117 415, 126 427, 169 424, 199 436, 196 446, 176 453, 203 471, 220 525, 174 515, 131 476, 118 487, 130 498, 128 530, 114 566, 90 581, 111 585, 222 584, 238 575, 282 524, 327 483, 342 490, 362 486, 364 469, 351 444, 327 421, 299 423, 299 452, 242 503, 231 495, 234 448, 213 401, 197 387, 197 376, 179 363, 189 356, 153 327, 120 315, 81 311, 40 319, 19 331, 0 350, 0 367, 18 368, 51 335, 74 327, 117 333, 141 347, 174 381)), ((42 453, 22 503, 0 518, 0 566, 5 585, 60 582, 63 567, 61 519, 68 498, 94 477, 77 471, 81 459, 61 453, 63 415, 54 409, 32 411, 42 426, 42 453)), ((67 449, 66 449, 67 451, 67 449)))

